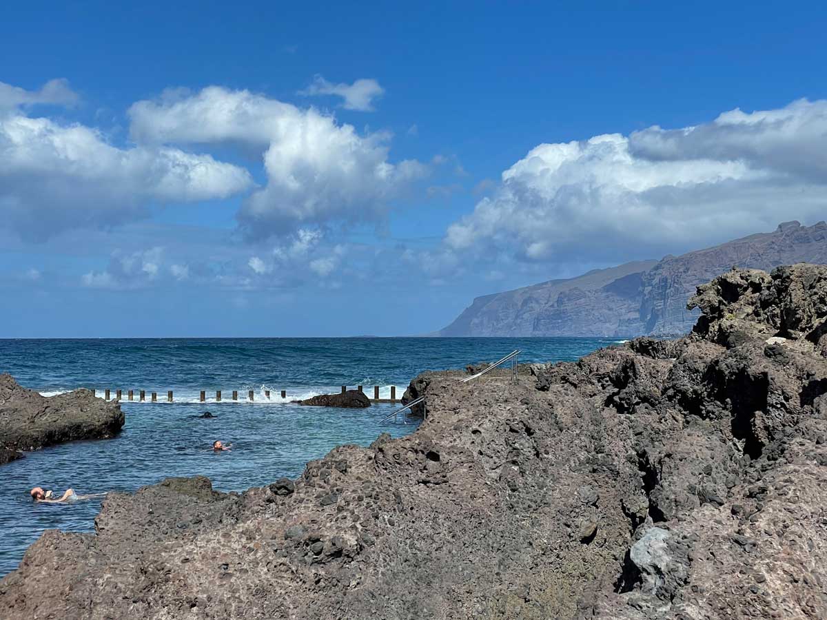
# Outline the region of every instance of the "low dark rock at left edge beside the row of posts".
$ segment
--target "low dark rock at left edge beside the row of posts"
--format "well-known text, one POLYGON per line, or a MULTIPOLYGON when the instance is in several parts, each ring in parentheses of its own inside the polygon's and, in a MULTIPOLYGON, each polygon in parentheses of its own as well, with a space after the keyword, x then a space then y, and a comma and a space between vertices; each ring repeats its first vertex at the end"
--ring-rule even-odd
POLYGON ((0 374, 0 465, 19 458, 19 451, 107 439, 117 435, 123 422, 118 403, 95 398, 88 389, 46 398, 22 388, 11 374, 0 374))

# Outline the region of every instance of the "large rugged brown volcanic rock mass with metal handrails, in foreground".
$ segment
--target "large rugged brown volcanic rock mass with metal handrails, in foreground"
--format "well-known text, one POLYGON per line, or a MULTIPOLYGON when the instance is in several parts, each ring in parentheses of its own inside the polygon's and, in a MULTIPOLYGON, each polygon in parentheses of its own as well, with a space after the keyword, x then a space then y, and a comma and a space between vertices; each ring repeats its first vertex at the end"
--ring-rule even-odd
MULTIPOLYGON (((295 481, 112 495, 0 617, 827 617, 827 267, 734 270, 677 341, 418 377, 413 435, 295 481)), ((413 394, 409 394, 409 397, 413 394)))

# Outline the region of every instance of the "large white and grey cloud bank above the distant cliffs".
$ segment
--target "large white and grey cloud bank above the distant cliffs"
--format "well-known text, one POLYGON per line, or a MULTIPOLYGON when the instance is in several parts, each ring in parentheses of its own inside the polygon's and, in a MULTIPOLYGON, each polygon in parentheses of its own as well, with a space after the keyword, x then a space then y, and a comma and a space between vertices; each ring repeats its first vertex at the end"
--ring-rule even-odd
POLYGON ((827 101, 677 130, 542 144, 447 230, 448 252, 521 260, 660 256, 824 217, 827 101))

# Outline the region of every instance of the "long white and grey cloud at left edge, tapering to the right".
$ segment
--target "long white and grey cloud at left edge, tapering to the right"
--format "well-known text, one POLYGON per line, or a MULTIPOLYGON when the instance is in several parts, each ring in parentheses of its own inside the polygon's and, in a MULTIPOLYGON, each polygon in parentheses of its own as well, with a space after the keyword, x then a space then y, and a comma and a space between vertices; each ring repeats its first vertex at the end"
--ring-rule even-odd
MULTIPOLYGON (((56 100, 55 88, 39 97, 56 100)), ((28 240, 126 222, 151 203, 227 198, 251 186, 245 169, 210 155, 165 145, 119 148, 88 126, 19 110, 0 115, 0 215, 28 240)))

